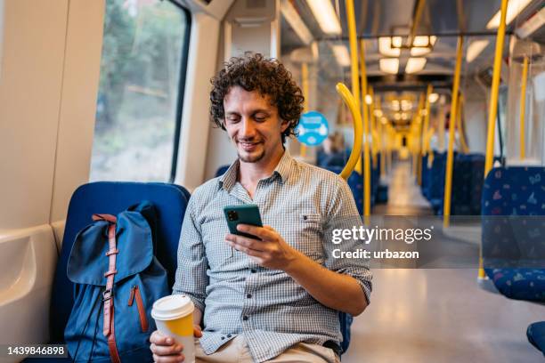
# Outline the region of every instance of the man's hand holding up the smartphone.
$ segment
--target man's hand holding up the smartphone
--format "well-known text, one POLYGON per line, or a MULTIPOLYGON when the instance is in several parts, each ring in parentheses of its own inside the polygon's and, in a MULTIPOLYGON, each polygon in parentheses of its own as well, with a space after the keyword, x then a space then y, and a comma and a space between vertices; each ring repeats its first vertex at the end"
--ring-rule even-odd
POLYGON ((256 238, 227 234, 225 241, 234 249, 248 254, 252 261, 273 270, 288 270, 300 256, 300 253, 289 246, 281 235, 271 226, 256 227, 239 224, 237 230, 251 234, 256 238))

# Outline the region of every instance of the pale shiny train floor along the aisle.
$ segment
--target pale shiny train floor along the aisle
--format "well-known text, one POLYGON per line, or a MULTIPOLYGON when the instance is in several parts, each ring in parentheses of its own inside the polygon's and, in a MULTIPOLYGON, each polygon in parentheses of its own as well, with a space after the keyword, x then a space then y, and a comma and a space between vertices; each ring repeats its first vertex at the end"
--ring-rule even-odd
MULTIPOLYGON (((430 214, 411 165, 392 173, 389 203, 374 214, 430 214)), ((365 312, 354 319, 343 363, 542 362, 526 327, 545 306, 481 289, 475 269, 377 269, 365 312)))

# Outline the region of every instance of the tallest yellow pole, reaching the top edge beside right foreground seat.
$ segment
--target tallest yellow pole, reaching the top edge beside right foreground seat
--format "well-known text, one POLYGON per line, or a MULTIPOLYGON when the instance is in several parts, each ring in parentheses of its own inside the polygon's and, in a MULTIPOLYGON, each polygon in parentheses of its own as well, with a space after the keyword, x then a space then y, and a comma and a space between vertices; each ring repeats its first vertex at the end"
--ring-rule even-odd
MULTIPOLYGON (((492 89, 488 109, 488 133, 486 134, 486 158, 484 160, 484 178, 492 170, 494 160, 494 133, 496 131, 496 116, 498 112, 498 93, 500 93, 501 53, 505 39, 505 17, 508 0, 501 0, 500 27, 496 33, 496 52, 494 54, 494 70, 492 73, 492 89)), ((480 248, 479 278, 486 278, 483 266, 483 246, 480 248)))

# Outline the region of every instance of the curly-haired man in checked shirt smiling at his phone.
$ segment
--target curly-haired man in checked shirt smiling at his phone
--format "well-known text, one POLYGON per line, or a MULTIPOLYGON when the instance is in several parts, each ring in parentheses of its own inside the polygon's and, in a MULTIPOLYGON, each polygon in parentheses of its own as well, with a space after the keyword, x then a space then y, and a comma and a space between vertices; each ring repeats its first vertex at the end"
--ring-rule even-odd
MULTIPOLYGON (((338 311, 360 314, 371 290, 365 261, 329 251, 333 229, 361 223, 350 190, 284 149, 303 97, 281 63, 232 59, 212 83, 211 118, 239 158, 195 190, 183 221, 174 293, 196 306, 197 361, 338 362, 338 311), (259 239, 228 233, 223 208, 241 204, 259 206, 265 226, 239 226, 259 239)), ((150 342, 156 361, 183 361, 171 338, 150 342)))

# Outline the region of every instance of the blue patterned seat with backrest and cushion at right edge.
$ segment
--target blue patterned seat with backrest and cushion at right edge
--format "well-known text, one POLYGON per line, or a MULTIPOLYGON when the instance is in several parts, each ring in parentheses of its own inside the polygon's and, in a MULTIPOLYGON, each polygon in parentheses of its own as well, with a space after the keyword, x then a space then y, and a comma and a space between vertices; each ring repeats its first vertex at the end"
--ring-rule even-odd
POLYGON ((545 255, 543 181, 545 168, 524 166, 494 168, 484 181, 484 270, 511 299, 545 303, 545 269, 530 264, 545 255))

